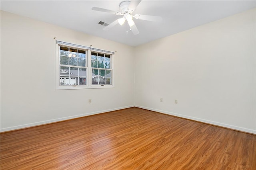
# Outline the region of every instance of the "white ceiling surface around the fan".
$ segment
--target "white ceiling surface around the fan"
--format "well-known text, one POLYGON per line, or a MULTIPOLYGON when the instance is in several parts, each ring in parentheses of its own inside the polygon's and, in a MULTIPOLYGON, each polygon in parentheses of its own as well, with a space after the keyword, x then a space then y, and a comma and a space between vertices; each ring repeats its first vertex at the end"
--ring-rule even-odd
POLYGON ((211 21, 255 8, 255 0, 142 0, 134 14, 161 16, 163 20, 151 22, 136 20, 140 33, 126 33, 126 24, 104 31, 99 21, 111 23, 122 17, 91 10, 92 7, 119 11, 124 0, 1 0, 1 10, 81 31, 119 43, 137 46, 172 35, 211 21))

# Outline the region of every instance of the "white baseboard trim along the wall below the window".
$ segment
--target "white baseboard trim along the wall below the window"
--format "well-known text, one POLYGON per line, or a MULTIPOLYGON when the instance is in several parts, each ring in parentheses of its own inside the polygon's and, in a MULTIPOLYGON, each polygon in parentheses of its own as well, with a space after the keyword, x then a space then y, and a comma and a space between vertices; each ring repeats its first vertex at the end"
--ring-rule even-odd
POLYGON ((0 132, 18 130, 18 129, 23 129, 23 128, 27 128, 27 127, 33 127, 33 126, 38 126, 38 125, 44 125, 44 124, 48 124, 48 123, 55 123, 55 122, 58 122, 58 121, 64 121, 64 120, 68 120, 68 119, 74 119, 74 118, 84 117, 84 116, 89 116, 89 115, 96 115, 96 114, 105 113, 105 112, 108 112, 108 111, 116 111, 116 110, 126 109, 126 108, 130 108, 130 107, 134 107, 134 105, 131 105, 131 106, 124 106, 124 107, 118 107, 118 108, 114 108, 114 109, 107 109, 107 110, 95 111, 95 112, 91 112, 91 113, 84 113, 84 114, 74 115, 74 116, 68 116, 68 117, 61 117, 61 118, 58 118, 58 119, 51 119, 51 120, 46 120, 46 121, 39 121, 39 122, 28 123, 28 124, 24 124, 24 125, 6 127, 6 128, 0 129, 0 132))

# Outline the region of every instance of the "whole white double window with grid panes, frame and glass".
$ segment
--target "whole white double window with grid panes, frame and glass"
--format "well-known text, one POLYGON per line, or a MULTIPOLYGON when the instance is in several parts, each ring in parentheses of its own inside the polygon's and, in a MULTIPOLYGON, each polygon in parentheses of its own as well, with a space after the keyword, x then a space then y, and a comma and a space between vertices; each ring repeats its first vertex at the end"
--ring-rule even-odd
POLYGON ((56 41, 56 90, 113 88, 114 53, 56 41))

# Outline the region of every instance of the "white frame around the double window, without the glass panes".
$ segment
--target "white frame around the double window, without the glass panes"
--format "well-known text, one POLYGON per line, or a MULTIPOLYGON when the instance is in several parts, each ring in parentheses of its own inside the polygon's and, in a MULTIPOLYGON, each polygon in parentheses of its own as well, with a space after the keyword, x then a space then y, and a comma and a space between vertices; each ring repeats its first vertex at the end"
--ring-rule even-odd
POLYGON ((114 52, 56 40, 56 43, 55 43, 55 90, 92 89, 92 88, 114 88, 114 52), (65 47, 86 50, 86 74, 87 74, 86 85, 60 85, 60 45, 63 45, 65 47), (99 84, 99 85, 92 84, 92 67, 91 67, 92 52, 104 53, 104 54, 110 55, 111 84, 99 84))

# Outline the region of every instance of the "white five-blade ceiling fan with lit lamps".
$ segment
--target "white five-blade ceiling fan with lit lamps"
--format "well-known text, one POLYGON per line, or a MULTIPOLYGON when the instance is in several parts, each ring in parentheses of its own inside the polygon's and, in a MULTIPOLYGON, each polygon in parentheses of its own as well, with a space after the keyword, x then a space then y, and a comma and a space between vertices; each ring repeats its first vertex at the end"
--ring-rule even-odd
POLYGON ((120 25, 123 25, 124 22, 127 21, 128 25, 130 26, 130 29, 132 30, 132 33, 134 35, 136 35, 139 33, 139 30, 136 27, 134 21, 132 20, 133 18, 138 19, 138 20, 147 20, 147 21, 161 21, 162 20, 162 17, 159 17, 159 16, 148 16, 148 15, 141 15, 141 14, 135 14, 133 16, 132 12, 134 12, 134 10, 140 4, 140 2, 141 2, 141 0, 131 0, 131 1, 121 2, 121 4, 119 5, 120 12, 107 10, 104 8, 98 8, 98 7, 92 7, 92 10, 100 11, 100 12, 107 12, 107 13, 116 14, 116 15, 123 15, 122 18, 119 18, 119 19, 115 20, 114 22, 110 23, 108 26, 104 27, 103 28, 104 30, 108 30, 108 29, 114 27, 118 23, 120 25))

